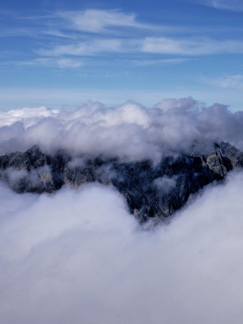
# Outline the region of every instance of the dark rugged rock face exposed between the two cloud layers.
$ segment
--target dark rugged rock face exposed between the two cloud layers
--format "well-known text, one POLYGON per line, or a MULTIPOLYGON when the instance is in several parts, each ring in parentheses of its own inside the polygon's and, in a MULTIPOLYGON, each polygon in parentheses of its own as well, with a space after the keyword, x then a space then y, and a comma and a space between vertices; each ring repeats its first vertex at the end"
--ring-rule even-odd
POLYGON ((37 146, 0 157, 0 179, 18 193, 53 192, 62 187, 98 181, 115 186, 141 223, 163 220, 181 208, 193 194, 214 180, 223 180, 243 167, 243 153, 229 143, 211 149, 150 161, 121 162, 102 157, 72 159, 64 151, 46 155, 37 146))

